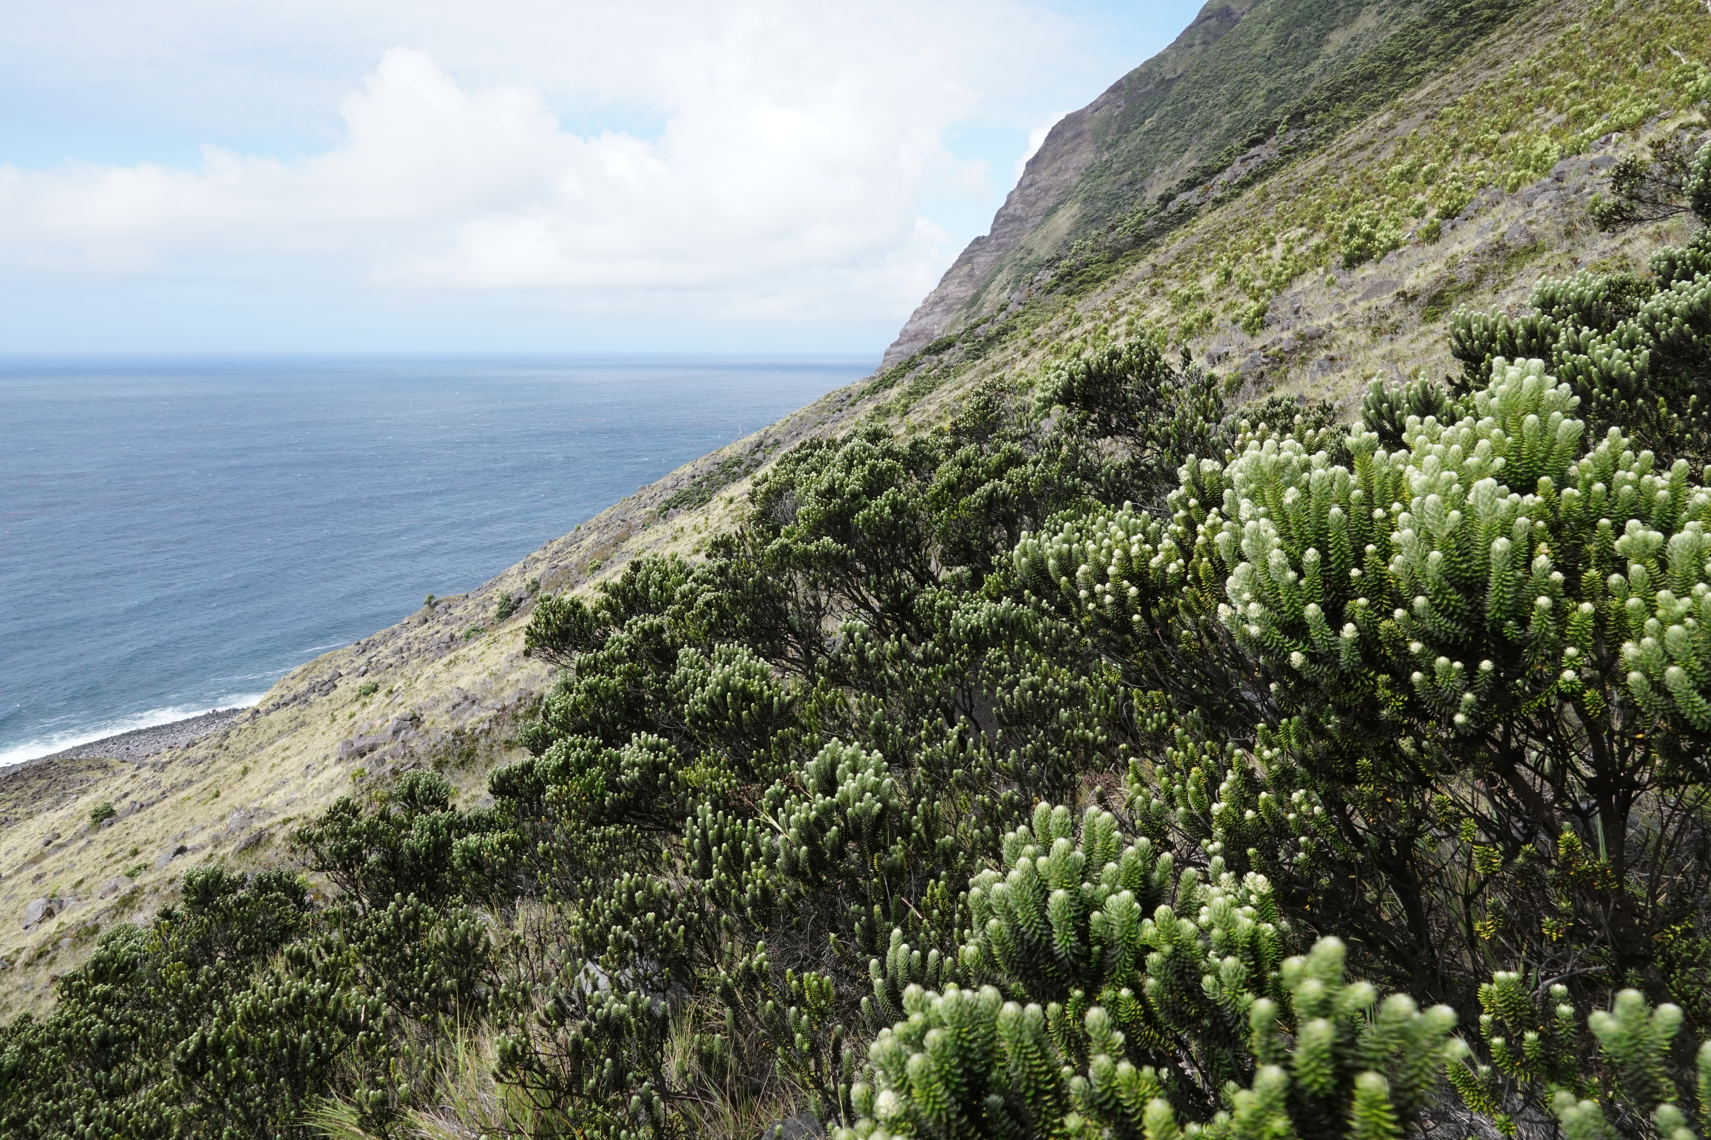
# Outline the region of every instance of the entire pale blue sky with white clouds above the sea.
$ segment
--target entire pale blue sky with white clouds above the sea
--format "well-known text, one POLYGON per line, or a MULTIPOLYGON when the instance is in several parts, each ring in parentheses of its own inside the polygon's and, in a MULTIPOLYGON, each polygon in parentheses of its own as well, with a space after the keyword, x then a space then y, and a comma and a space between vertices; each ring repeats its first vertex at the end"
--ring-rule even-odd
POLYGON ((0 352, 871 352, 1184 0, 0 0, 0 352))

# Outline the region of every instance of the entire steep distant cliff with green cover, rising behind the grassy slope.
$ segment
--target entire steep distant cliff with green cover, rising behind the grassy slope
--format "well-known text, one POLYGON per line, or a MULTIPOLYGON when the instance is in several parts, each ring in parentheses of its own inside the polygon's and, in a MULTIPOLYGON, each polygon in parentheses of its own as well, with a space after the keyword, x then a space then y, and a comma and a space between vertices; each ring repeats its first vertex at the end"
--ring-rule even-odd
POLYGON ((1090 232, 1249 179, 1451 67, 1526 0, 1210 0, 1193 24, 1066 115, 886 350, 897 364, 1004 304, 1090 232))

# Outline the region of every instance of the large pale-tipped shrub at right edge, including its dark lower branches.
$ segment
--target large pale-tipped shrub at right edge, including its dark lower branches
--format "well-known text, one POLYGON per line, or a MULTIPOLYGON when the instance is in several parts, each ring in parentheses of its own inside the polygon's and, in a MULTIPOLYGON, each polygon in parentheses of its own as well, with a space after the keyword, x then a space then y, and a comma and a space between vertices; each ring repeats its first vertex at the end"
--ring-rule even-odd
MULTIPOLYGON (((1187 841, 1312 897, 1319 933, 1410 947, 1393 981, 1444 967, 1442 935, 1425 933, 1437 921, 1463 938, 1458 969, 1499 933, 1569 967, 1603 930, 1649 962, 1656 935, 1596 914, 1613 906, 1603 892, 1663 892, 1619 887, 1629 848, 1600 836, 1629 834, 1641 796, 1696 779, 1711 730, 1711 492, 1685 463, 1655 470, 1620 431, 1588 448, 1576 395, 1538 361, 1494 362, 1444 410, 1456 419, 1405 417, 1394 450, 1355 431, 1347 463, 1254 432, 1227 463, 1184 463, 1167 518, 1104 508, 1027 535, 1018 576, 1199 723, 1232 708, 1268 721, 1240 747, 1187 726, 1153 745, 1131 774, 1153 843, 1187 841), (1177 668, 1131 665, 1160 658, 1177 668), (1222 684, 1182 680, 1206 675, 1222 684), (1444 786, 1446 769, 1473 791, 1444 786), (1374 844, 1430 851, 1434 867, 1398 877, 1374 844), (1562 877, 1548 899, 1470 909, 1478 882, 1542 865, 1562 877)), ((1636 839, 1651 853, 1636 875, 1696 880, 1673 839, 1636 839)))

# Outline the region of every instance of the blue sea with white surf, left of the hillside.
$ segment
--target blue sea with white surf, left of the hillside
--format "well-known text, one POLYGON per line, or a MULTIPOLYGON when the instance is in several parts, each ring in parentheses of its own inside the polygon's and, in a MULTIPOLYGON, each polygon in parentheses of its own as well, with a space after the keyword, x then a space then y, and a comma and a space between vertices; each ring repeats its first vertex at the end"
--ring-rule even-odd
POLYGON ((0 764, 243 704, 866 359, 0 359, 0 764))

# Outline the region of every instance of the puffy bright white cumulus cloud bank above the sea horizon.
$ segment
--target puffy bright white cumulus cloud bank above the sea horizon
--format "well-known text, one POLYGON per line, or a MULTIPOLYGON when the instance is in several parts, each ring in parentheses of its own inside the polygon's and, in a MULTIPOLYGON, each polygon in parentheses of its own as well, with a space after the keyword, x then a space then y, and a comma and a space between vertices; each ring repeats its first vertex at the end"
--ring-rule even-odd
POLYGON ((578 137, 537 91, 465 91, 395 48, 344 101, 340 145, 308 159, 209 147, 198 169, 0 171, 0 256, 65 275, 296 255, 402 291, 559 289, 595 308, 700 292, 703 311, 785 316, 895 309, 931 285, 944 234, 915 195, 951 164, 938 130, 962 99, 885 123, 859 91, 722 94, 659 138, 578 137))

